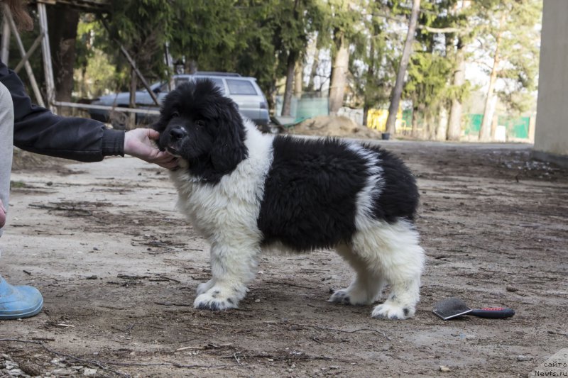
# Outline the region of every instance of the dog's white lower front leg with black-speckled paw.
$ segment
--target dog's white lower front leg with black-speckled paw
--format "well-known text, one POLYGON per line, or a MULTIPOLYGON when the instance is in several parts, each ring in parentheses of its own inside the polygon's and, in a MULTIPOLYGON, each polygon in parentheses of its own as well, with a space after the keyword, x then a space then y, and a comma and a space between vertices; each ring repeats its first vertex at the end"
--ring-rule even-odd
POLYGON ((226 310, 239 306, 239 301, 246 295, 246 285, 254 278, 260 252, 249 243, 219 243, 211 247, 212 279, 197 287, 195 308, 202 310, 226 310))

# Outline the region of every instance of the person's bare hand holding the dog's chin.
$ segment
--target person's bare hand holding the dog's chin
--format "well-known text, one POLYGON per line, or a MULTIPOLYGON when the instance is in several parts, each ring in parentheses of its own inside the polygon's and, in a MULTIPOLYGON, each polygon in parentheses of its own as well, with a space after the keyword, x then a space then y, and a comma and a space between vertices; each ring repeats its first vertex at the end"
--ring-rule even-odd
POLYGON ((178 167, 178 158, 169 152, 160 151, 152 140, 158 140, 160 133, 151 128, 135 128, 124 135, 124 153, 160 167, 173 169, 178 167))

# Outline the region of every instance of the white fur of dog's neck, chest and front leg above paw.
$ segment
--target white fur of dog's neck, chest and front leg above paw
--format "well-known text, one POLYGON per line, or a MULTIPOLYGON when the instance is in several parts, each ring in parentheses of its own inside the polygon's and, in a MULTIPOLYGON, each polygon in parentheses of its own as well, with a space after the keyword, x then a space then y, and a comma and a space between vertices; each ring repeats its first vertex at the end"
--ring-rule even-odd
POLYGON ((179 194, 178 209, 212 245, 213 277, 223 277, 224 287, 243 291, 242 296, 243 285, 254 277, 260 252, 257 219, 273 161, 274 138, 263 135, 248 120, 245 128, 249 156, 218 184, 200 183, 187 169, 171 172, 179 194))

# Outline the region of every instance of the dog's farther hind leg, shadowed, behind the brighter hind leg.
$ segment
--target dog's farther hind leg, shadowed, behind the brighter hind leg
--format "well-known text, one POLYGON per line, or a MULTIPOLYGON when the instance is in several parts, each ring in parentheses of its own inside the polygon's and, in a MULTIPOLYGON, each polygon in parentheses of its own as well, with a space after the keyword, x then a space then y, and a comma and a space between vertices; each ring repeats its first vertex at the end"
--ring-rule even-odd
POLYGON ((384 279, 379 272, 370 269, 368 263, 355 252, 351 245, 338 245, 337 253, 349 262, 356 272, 355 279, 346 289, 337 290, 329 297, 330 302, 364 305, 378 300, 383 291, 384 279))

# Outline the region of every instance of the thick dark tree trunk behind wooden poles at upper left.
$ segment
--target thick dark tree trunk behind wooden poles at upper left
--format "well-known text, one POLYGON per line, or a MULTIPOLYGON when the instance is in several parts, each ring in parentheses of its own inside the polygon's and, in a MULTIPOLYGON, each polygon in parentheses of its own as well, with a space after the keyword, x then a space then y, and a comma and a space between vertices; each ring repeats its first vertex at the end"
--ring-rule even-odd
POLYGON ((48 6, 46 9, 55 77, 55 99, 71 101, 79 11, 67 6, 48 6))

